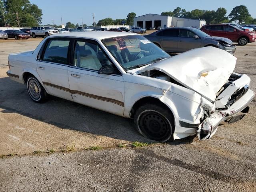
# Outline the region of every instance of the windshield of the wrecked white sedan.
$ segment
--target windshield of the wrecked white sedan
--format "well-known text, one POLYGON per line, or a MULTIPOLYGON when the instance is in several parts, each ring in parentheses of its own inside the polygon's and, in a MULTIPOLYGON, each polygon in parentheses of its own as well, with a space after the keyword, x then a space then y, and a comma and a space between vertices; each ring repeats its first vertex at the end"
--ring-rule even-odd
POLYGON ((170 57, 169 54, 141 35, 108 38, 102 42, 116 61, 126 70, 170 57))

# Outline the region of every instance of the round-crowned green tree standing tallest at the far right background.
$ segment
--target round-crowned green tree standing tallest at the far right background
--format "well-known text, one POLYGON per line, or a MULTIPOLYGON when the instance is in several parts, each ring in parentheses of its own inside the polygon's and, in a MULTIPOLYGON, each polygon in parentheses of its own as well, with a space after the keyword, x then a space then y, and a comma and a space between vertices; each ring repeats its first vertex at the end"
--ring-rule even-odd
POLYGON ((238 21, 238 23, 241 24, 250 16, 251 15, 249 14, 247 7, 240 5, 233 8, 231 13, 228 15, 228 18, 230 18, 230 22, 238 21))

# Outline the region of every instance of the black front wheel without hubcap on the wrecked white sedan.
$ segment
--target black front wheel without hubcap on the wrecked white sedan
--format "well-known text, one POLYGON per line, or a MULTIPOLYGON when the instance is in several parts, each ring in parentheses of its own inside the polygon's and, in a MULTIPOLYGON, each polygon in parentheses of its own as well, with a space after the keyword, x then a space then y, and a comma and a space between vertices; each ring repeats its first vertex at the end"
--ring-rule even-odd
POLYGON ((134 125, 140 134, 151 140, 172 140, 174 118, 167 107, 155 104, 140 106, 134 114, 134 125))

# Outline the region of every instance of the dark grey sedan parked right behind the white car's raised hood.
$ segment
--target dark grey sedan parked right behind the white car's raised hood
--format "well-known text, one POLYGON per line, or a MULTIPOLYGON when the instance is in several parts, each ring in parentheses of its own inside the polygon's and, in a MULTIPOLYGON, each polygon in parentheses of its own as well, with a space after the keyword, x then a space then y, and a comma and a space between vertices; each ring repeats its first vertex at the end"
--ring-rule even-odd
POLYGON ((196 28, 172 27, 144 36, 169 53, 182 53, 194 48, 213 46, 234 54, 236 46, 228 38, 212 37, 196 28))

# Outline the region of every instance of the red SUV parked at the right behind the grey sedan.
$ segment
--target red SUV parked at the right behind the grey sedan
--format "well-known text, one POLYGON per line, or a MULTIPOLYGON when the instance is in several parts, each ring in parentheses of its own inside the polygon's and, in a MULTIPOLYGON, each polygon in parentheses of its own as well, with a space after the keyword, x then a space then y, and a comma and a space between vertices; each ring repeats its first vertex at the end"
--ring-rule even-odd
POLYGON ((226 37, 239 45, 256 41, 256 33, 241 30, 228 24, 212 24, 202 26, 201 31, 210 36, 226 37))

